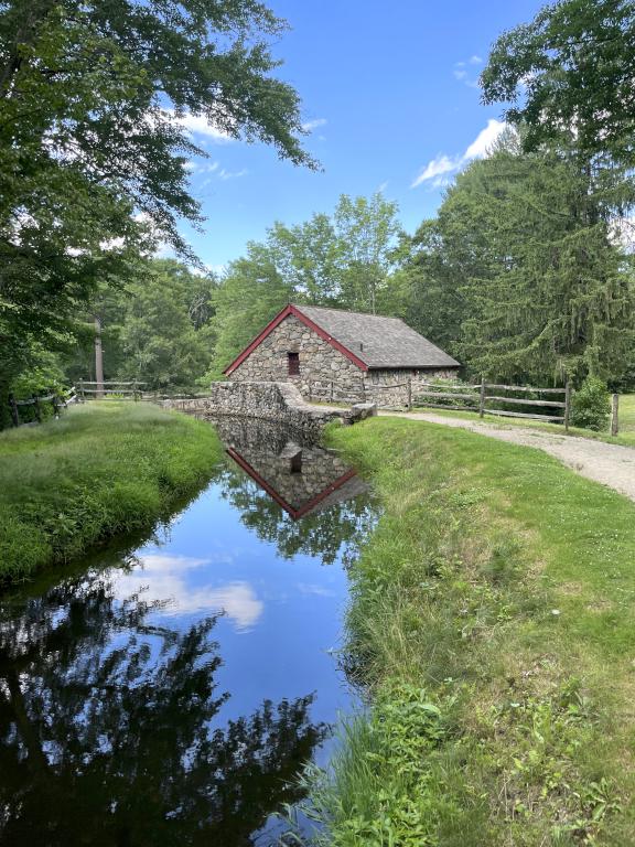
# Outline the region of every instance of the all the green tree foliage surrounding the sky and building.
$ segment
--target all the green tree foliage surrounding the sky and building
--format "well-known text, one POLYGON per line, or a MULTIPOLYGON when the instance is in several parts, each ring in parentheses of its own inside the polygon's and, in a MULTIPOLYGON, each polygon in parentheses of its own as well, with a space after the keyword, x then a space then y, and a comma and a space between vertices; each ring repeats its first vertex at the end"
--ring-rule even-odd
POLYGON ((282 25, 256 0, 0 4, 0 406, 94 377, 96 319, 107 378, 205 386, 289 301, 402 317, 466 378, 633 388, 634 4, 563 0, 501 35, 482 85, 508 129, 412 237, 383 194, 343 194, 195 274, 184 118, 312 165, 271 76, 282 25))

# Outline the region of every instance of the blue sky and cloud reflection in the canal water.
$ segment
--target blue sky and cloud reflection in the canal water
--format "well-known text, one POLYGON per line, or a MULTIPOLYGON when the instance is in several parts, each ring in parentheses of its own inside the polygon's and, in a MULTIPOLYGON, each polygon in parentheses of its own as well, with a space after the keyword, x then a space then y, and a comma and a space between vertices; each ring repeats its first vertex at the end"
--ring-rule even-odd
POLYGON ((220 491, 214 484, 191 504, 166 543, 137 550, 140 564, 116 576, 116 593, 123 599, 142 589, 147 601, 168 601, 149 620, 165 615, 182 630, 224 612, 214 630, 223 658, 216 682, 232 696, 217 720, 248 714, 267 698, 316 691, 312 720, 333 721, 352 704, 331 654, 341 642, 346 575, 316 556, 280 557, 220 491))

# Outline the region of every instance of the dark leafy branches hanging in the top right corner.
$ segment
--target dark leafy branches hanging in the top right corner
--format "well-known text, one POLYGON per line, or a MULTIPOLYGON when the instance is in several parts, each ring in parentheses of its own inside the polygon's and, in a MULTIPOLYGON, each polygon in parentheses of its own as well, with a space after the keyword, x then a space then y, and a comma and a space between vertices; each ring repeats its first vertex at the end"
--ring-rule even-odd
POLYGON ((561 0, 495 42, 485 103, 506 101, 527 149, 566 135, 584 160, 635 164, 635 3, 561 0))

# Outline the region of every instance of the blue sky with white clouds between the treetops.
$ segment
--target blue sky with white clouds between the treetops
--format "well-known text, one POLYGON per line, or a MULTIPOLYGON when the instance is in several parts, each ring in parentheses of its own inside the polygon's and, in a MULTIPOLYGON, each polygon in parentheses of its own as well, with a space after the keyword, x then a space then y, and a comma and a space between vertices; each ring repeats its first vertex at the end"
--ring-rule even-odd
POLYGON ((270 0, 291 30, 273 45, 278 76, 302 97, 306 148, 323 171, 227 141, 194 126, 211 156, 192 163, 205 232, 183 232, 219 268, 275 221, 331 212, 342 193, 383 191, 413 232, 434 214, 443 184, 498 129, 501 108, 480 103, 476 79, 496 36, 530 20, 535 0, 270 0), (418 183, 418 184, 417 184, 418 183))

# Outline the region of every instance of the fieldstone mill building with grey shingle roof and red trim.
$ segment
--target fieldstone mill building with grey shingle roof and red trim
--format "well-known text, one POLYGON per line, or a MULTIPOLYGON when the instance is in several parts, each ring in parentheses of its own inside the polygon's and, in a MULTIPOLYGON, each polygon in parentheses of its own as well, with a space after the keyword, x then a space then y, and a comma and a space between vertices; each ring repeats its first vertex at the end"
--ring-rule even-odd
POLYGON ((399 318, 290 303, 224 373, 233 382, 291 382, 312 400, 391 406, 460 366, 399 318))

